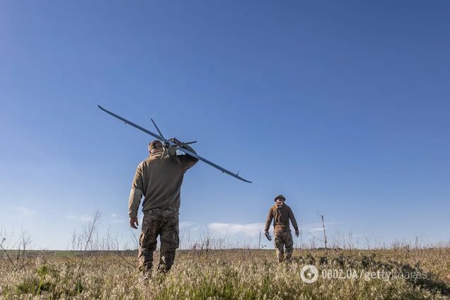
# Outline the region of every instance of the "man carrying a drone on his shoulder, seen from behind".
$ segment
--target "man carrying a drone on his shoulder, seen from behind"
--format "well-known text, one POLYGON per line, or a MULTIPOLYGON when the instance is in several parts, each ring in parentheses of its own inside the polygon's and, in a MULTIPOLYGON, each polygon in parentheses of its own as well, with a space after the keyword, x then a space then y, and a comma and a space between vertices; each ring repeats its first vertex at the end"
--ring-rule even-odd
MULTIPOLYGON (((177 139, 172 142, 180 143, 177 139)), ((183 147, 195 153, 188 145, 183 147)), ((142 233, 139 236, 139 271, 141 281, 149 279, 153 266, 156 238, 161 241, 161 258, 158 271, 171 270, 178 248, 178 209, 183 175, 198 159, 190 155, 177 155, 173 147, 165 151, 163 144, 155 140, 149 144, 149 158, 139 163, 129 194, 129 224, 137 229, 137 210, 142 202, 142 233)))

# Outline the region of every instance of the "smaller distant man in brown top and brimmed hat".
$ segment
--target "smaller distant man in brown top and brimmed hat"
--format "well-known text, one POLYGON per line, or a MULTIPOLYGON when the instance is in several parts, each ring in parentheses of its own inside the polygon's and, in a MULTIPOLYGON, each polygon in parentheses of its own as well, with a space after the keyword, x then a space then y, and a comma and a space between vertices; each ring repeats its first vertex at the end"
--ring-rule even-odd
POLYGON ((291 229, 289 227, 289 219, 295 229, 295 236, 299 236, 299 226, 295 220, 294 213, 291 207, 284 204, 286 198, 283 195, 275 197, 275 204, 270 207, 267 221, 265 221, 265 233, 269 233, 270 224, 273 221, 274 235, 275 235, 275 250, 277 251, 277 260, 282 262, 284 260, 284 247, 286 247, 286 260, 291 261, 292 252, 294 250, 294 242, 292 241, 291 229))

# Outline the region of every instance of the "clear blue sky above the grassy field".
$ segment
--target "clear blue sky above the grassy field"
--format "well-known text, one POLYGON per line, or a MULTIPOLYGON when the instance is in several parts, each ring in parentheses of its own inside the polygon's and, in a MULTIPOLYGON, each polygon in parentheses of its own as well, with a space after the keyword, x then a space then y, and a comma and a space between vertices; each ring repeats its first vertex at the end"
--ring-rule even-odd
POLYGON ((257 243, 282 193, 305 239, 324 214, 354 241, 447 241, 449 15, 449 1, 0 1, 0 226, 64 249, 100 209, 129 236, 151 137, 100 104, 253 181, 188 171, 192 236, 257 243))

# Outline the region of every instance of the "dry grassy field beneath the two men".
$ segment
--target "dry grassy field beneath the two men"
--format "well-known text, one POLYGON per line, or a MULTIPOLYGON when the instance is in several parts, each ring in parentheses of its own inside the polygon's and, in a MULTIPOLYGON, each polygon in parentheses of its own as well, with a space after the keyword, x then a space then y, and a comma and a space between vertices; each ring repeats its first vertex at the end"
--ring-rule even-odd
POLYGON ((144 286, 134 251, 2 255, 1 299, 450 299, 450 248, 296 249, 281 264, 275 250, 180 250, 144 286))

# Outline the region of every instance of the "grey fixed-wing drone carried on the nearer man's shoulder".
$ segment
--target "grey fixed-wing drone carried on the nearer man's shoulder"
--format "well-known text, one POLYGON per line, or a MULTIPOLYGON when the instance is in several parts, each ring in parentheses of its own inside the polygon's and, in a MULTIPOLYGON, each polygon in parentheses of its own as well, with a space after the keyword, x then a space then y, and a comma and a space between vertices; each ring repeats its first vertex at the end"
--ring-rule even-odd
POLYGON ((184 154, 188 154, 190 156, 194 156, 195 158, 200 159, 200 161, 203 161, 204 163, 209 164, 209 166, 213 166, 214 168, 219 169, 220 171, 222 171, 222 173, 227 173, 228 175, 233 176, 234 178, 238 178, 239 180, 245 181, 246 183, 251 183, 251 181, 248 181, 244 178, 242 178, 241 176, 239 176, 235 173, 232 173, 224 168, 222 168, 221 166, 217 166, 217 164, 213 163, 212 161, 208 161, 205 158, 202 158, 201 156, 198 156, 197 154, 193 153, 192 151, 189 151, 188 149, 185 149, 184 146, 188 145, 188 144, 193 144, 196 143, 195 142, 186 142, 186 143, 182 143, 182 142, 178 142, 175 139, 166 139, 163 134, 161 133, 161 131, 159 130, 158 126, 156 126, 156 123, 153 119, 151 119, 151 122, 153 122, 153 125, 155 125, 156 130, 158 131, 158 134, 151 132, 147 129, 145 129, 144 127, 140 127, 139 125, 134 124, 133 122, 130 122, 129 120, 120 117, 120 115, 116 115, 115 113, 110 112, 109 110, 105 110, 105 108, 102 108, 100 105, 97 105, 98 108, 100 108, 100 110, 103 110, 105 113, 108 113, 109 115, 112 115, 113 117, 117 117, 117 119, 121 120, 122 122, 125 122, 125 124, 128 125, 132 125, 132 127, 137 128, 139 130, 141 130, 142 132, 145 132, 146 134, 151 135, 152 137, 154 137, 155 139, 158 139, 159 141, 161 141, 163 143, 163 146, 168 148, 169 146, 174 146, 175 149, 182 151, 184 154))

